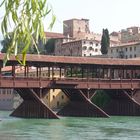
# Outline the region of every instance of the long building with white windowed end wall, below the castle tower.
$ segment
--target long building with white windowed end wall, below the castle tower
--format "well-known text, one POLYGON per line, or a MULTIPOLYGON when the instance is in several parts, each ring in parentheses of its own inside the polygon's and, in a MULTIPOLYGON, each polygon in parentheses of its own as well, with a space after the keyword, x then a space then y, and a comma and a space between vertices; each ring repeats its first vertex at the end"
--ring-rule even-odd
POLYGON ((96 40, 75 40, 56 46, 57 56, 94 56, 101 55, 101 44, 96 40))

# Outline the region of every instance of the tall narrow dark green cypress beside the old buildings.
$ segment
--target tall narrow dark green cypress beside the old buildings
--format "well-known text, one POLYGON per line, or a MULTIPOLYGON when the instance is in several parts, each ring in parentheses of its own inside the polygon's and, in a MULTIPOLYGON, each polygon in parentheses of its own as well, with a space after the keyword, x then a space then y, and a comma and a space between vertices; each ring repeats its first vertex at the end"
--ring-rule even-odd
POLYGON ((108 53, 108 47, 110 46, 110 38, 108 29, 103 29, 102 39, 101 39, 101 52, 102 54, 108 53))

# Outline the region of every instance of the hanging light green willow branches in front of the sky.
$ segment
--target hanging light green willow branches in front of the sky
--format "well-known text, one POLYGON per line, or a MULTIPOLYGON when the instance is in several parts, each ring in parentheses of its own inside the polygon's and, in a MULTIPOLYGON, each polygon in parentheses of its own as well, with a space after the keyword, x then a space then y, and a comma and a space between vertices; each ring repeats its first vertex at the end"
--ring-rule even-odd
MULTIPOLYGON (((13 36, 4 64, 10 59, 10 55, 14 55, 20 64, 25 65, 26 54, 31 47, 38 50, 38 39, 45 42, 43 18, 50 14, 51 9, 48 7, 46 0, 3 0, 0 6, 5 6, 5 14, 1 23, 1 30, 5 38, 10 38, 9 25, 12 23, 13 36), (22 54, 22 61, 19 59, 22 54)), ((52 21, 50 28, 55 22, 55 16, 52 13, 52 21)), ((11 39, 11 38, 10 38, 11 39)))

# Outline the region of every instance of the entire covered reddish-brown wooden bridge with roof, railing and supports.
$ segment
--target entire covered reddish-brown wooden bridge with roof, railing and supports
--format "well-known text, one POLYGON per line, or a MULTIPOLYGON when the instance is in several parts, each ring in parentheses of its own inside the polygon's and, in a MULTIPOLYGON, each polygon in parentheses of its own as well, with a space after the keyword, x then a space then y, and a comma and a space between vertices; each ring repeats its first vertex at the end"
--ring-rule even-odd
MULTIPOLYGON (((140 115, 140 60, 101 59, 27 55, 24 76, 16 77, 18 62, 12 56, 11 76, 2 74, 4 54, 0 54, 0 88, 13 88, 23 103, 11 114, 24 118, 59 118, 61 116, 109 117, 110 115, 140 115), (36 67, 37 77, 29 77, 29 67, 36 67), (48 77, 41 77, 47 67, 48 77), (59 77, 55 77, 55 69, 59 77), (62 70, 64 73, 62 73, 62 70), (51 74, 52 73, 52 74, 51 74), (59 112, 53 112, 43 99, 49 89, 61 89, 70 102, 59 112), (104 90, 108 104, 91 102, 97 90, 104 90)), ((101 97, 102 98, 102 97, 101 97)))

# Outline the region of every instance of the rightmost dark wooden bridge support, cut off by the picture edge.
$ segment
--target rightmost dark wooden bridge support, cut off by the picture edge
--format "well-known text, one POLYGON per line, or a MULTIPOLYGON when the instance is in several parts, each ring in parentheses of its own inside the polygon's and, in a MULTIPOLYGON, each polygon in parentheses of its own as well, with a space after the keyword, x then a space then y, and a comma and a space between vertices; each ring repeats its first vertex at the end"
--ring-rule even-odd
POLYGON ((111 100, 102 109, 109 115, 140 116, 140 102, 136 100, 139 94, 136 95, 136 92, 136 90, 109 91, 107 94, 111 100))

